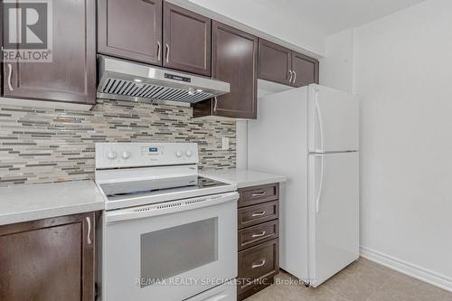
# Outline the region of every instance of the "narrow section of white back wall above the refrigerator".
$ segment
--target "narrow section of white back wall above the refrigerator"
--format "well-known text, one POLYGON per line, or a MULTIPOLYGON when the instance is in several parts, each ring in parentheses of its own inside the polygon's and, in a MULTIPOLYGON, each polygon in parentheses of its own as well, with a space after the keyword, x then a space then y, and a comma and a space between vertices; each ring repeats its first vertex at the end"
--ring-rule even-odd
POLYGON ((319 75, 323 86, 353 91, 353 29, 326 38, 319 75))

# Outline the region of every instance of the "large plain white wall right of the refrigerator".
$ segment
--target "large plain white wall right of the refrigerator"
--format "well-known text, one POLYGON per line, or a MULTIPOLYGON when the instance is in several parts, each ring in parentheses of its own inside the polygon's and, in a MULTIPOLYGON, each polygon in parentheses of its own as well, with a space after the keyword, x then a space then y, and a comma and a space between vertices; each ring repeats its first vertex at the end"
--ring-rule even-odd
POLYGON ((452 289, 452 1, 354 33, 364 251, 452 289))

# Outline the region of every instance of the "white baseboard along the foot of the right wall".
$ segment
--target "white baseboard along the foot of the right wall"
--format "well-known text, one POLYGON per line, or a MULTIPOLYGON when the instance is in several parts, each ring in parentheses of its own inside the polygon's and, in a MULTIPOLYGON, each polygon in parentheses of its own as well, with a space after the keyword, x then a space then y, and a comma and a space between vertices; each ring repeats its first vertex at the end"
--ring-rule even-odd
POLYGON ((374 249, 369 249, 362 246, 360 250, 361 256, 364 259, 369 259, 387 268, 395 269, 400 273, 406 274, 410 277, 415 277, 433 286, 441 287, 452 292, 452 278, 450 277, 438 274, 427 268, 419 267, 410 262, 396 259, 390 255, 381 253, 374 249))

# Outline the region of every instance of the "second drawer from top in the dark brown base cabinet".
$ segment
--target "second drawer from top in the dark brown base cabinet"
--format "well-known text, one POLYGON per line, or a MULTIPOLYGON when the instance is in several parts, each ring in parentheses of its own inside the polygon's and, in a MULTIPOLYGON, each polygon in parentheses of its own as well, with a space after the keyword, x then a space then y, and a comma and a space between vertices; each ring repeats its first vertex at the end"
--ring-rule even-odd
POLYGON ((249 226, 254 226, 264 221, 271 221, 278 219, 279 206, 278 201, 265 202, 258 205, 245 207, 239 209, 238 214, 238 228, 243 229, 249 226))

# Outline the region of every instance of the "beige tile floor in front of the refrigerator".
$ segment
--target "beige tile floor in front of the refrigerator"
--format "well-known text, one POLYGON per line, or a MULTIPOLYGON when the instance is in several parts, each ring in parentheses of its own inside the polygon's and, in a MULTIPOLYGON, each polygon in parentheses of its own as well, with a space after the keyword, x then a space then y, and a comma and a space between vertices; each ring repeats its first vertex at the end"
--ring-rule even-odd
POLYGON ((246 301, 452 301, 449 293, 367 259, 359 259, 317 288, 280 273, 275 285, 246 301))

